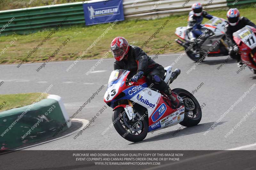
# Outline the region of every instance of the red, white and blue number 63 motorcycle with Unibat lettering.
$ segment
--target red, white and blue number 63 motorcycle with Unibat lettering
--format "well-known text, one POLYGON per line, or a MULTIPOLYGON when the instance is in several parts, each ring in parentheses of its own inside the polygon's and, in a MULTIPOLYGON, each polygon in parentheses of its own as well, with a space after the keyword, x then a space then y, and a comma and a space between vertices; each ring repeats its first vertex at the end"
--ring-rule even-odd
MULTIPOLYGON (((170 85, 180 74, 180 69, 172 72, 172 67, 168 66, 165 70, 164 81, 170 85)), ((127 70, 112 71, 104 95, 104 102, 114 111, 114 127, 124 139, 138 142, 148 132, 178 123, 190 127, 201 121, 201 107, 190 92, 181 88, 173 89, 183 99, 185 107, 172 109, 168 97, 150 88, 146 77, 138 82, 131 82, 127 79, 129 73, 127 70)))

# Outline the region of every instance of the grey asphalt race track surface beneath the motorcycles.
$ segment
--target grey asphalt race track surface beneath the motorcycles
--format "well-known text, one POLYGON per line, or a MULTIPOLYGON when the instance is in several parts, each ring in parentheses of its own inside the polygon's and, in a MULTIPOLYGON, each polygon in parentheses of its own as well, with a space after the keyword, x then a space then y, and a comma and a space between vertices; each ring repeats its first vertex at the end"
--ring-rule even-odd
MULTIPOLYGON (((155 61, 166 67, 171 65, 178 56, 179 54, 161 55, 155 61)), ((183 56, 173 66, 173 69, 180 68, 181 74, 172 83, 172 89, 184 88, 192 92, 203 83, 194 94, 200 105, 204 106, 202 120, 195 127, 183 128, 178 124, 153 134, 148 133, 142 142, 132 143, 119 136, 114 127, 102 135, 112 123, 112 109, 108 107, 76 139, 73 138, 75 133, 59 140, 30 147, 28 150, 228 150, 236 147, 241 147, 238 149, 242 150, 255 150, 256 111, 251 112, 250 109, 256 104, 256 86, 214 126, 214 129, 204 134, 220 118, 220 115, 224 114, 244 92, 256 83, 256 74, 248 68, 237 74, 236 71, 239 68, 233 60, 229 60, 218 70, 217 67, 226 58, 227 56, 206 58, 189 74, 186 72, 195 63, 187 56, 183 56), (241 121, 248 113, 250 116, 241 121), (239 127, 228 137, 224 137, 239 122, 239 127), (173 135, 177 129, 180 130, 173 135)), ((49 93, 61 96, 68 114, 73 115, 93 92, 105 85, 105 88, 76 116, 76 119, 91 120, 106 105, 103 95, 110 72, 113 70, 114 59, 103 60, 96 67, 95 72, 85 75, 85 72, 97 61, 79 61, 68 72, 66 69, 73 61, 47 63, 39 72, 36 69, 42 63, 24 64, 20 68, 17 68, 16 64, 1 65, 0 75, 4 84, 0 87, 0 93, 44 92, 52 84, 53 87, 49 93)))

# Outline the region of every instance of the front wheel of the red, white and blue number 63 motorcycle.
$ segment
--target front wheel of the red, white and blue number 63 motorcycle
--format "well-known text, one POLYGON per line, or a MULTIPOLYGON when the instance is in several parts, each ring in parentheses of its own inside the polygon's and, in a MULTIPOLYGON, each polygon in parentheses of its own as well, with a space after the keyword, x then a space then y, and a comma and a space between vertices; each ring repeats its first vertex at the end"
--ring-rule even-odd
POLYGON ((148 115, 136 113, 134 120, 129 120, 123 107, 118 107, 113 115, 112 122, 117 133, 131 142, 139 142, 148 134, 148 115))

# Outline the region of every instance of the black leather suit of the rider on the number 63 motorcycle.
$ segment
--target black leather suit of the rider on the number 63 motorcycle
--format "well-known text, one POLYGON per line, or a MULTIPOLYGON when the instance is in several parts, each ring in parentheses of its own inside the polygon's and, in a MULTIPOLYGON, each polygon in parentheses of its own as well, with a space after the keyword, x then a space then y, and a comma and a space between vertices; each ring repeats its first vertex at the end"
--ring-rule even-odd
MULTIPOLYGON (((167 89, 169 91, 170 87, 164 82, 164 67, 156 63, 151 59, 141 48, 129 45, 130 49, 127 56, 121 61, 115 60, 114 70, 124 69, 131 71, 128 75, 128 79, 132 78, 138 71, 143 71, 144 75, 147 77, 148 85, 152 83, 153 88, 165 92, 167 89), (157 75, 160 81, 156 81, 154 76, 157 75)), ((167 95, 170 95, 168 92, 167 95)))

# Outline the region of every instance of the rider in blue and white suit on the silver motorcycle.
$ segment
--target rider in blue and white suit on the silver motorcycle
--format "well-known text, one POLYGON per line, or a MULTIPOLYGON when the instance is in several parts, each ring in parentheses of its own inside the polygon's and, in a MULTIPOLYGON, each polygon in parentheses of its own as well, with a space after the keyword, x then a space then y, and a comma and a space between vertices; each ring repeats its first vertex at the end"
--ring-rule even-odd
MULTIPOLYGON (((203 7, 200 3, 195 3, 192 5, 192 11, 188 14, 188 36, 193 42, 196 38, 198 38, 200 35, 202 35, 202 31, 200 30, 202 28, 202 21, 204 18, 212 19, 213 16, 208 14, 206 11, 203 11, 203 7)), ((208 37, 208 34, 205 34, 205 36, 201 37, 201 40, 197 42, 197 47, 199 48, 203 42, 208 37)))

